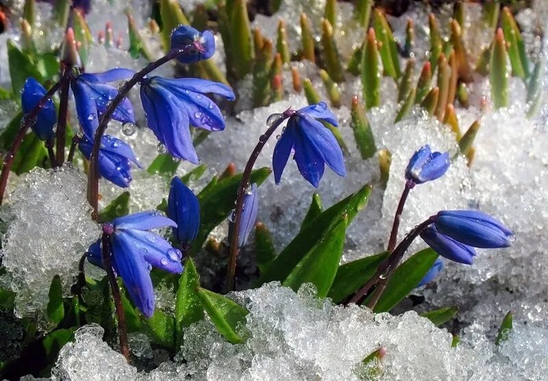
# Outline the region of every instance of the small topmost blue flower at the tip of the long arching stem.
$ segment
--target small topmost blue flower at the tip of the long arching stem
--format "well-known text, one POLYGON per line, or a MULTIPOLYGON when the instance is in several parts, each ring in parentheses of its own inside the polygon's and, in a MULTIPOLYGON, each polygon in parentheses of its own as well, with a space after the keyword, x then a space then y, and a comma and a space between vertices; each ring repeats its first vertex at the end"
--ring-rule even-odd
POLYGON ((215 38, 206 30, 199 32, 188 25, 180 25, 171 33, 171 49, 184 49, 193 45, 192 51, 177 57, 177 61, 183 64, 192 64, 201 60, 207 60, 215 53, 215 38))

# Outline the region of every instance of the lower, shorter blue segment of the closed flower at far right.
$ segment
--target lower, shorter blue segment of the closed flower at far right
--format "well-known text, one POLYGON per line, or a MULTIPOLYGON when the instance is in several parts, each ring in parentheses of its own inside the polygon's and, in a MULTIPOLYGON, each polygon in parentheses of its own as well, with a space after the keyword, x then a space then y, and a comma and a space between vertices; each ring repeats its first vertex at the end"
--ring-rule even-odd
POLYGON ((465 245, 443 235, 436 230, 434 225, 430 225, 421 232, 421 238, 442 257, 465 265, 473 263, 475 250, 473 247, 465 245))

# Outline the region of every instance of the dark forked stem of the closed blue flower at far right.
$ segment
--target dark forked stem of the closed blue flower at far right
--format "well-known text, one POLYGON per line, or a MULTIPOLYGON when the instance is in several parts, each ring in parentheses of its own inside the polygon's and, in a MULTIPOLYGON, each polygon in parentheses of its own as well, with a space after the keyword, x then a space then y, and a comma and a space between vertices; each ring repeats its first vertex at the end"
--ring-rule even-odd
POLYGON ((386 261, 383 261, 379 267, 377 267, 377 271, 365 285, 362 286, 356 293, 353 295, 351 299, 349 299, 345 304, 350 303, 357 303, 360 301, 363 296, 369 291, 372 287, 377 285, 377 289, 375 289, 375 295, 373 295, 373 298, 369 301, 368 306, 369 308, 373 309, 375 307, 375 304, 377 304, 377 301, 380 298, 380 295, 382 294, 382 291, 386 288, 386 282, 392 276, 395 268, 397 267, 399 261, 401 261, 401 258, 403 257, 403 254, 406 254, 406 251, 408 250, 409 246, 411 245, 412 241, 419 235, 421 232, 428 227, 429 224, 432 224, 432 217, 428 218, 428 220, 425 220, 421 224, 415 226, 412 231, 406 235, 405 238, 399 243, 397 248, 390 253, 390 257, 386 259, 386 261), (377 291, 379 290, 379 291, 377 291), (376 293, 378 292, 378 295, 376 293))

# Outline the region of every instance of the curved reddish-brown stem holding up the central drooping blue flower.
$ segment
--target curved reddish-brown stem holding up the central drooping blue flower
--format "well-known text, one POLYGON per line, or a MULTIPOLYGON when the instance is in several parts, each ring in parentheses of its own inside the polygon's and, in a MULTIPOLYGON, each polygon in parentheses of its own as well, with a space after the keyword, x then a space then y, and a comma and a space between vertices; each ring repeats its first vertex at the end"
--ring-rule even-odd
POLYGON ((232 229, 232 237, 230 237, 230 254, 228 257, 225 292, 229 292, 234 289, 234 276, 236 275, 236 258, 238 257, 238 251, 240 250, 240 248, 238 248, 238 240, 240 237, 240 220, 242 218, 245 190, 247 187, 249 187, 251 170, 253 170, 253 166, 255 165, 255 162, 257 161, 257 158, 259 157, 259 154, 261 153, 264 144, 266 144, 266 142, 269 140, 269 137, 271 137, 274 131, 279 127, 280 124, 282 124, 282 122, 284 122, 284 120, 286 120, 286 118, 289 118, 293 114, 295 114, 295 110, 287 109, 286 111, 284 111, 284 114, 279 114, 279 118, 277 118, 272 124, 269 124, 269 128, 266 130, 266 132, 260 135, 259 142, 255 146, 255 149, 253 149, 253 152, 251 152, 251 156, 249 157, 244 172, 242 173, 242 180, 240 181, 240 187, 238 187, 236 197, 236 208, 234 209, 236 214, 234 217, 234 228, 232 229))

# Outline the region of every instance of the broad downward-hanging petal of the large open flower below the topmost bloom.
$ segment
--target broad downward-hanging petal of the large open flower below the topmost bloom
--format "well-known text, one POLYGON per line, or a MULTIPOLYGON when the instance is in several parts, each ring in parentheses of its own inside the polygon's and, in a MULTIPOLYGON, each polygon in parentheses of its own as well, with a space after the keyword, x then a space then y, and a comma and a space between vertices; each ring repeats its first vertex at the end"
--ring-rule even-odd
POLYGON ((188 115, 182 103, 162 86, 149 85, 141 86, 141 101, 150 129, 169 153, 198 164, 198 155, 190 136, 188 115))

